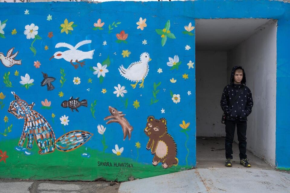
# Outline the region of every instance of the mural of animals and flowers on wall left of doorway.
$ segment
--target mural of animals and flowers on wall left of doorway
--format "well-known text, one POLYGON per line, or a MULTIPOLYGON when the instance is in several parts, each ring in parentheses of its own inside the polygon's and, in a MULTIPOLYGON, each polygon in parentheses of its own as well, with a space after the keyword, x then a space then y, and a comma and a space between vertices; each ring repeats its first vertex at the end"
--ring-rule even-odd
POLYGON ((195 125, 194 20, 141 4, 7 5, 0 177, 126 181, 195 166, 183 121, 195 125))

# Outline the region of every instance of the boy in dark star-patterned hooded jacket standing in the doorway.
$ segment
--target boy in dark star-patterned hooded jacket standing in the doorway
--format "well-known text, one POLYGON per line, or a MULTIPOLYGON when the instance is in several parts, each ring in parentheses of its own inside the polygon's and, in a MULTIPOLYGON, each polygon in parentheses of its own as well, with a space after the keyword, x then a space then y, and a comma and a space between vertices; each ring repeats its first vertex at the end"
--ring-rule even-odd
POLYGON ((250 89, 246 87, 246 73, 243 67, 234 66, 230 76, 230 84, 224 87, 221 96, 221 108, 226 115, 225 166, 232 166, 232 144, 234 140, 235 127, 237 125, 240 164, 245 167, 251 167, 246 155, 246 131, 247 116, 252 112, 252 107, 253 97, 250 89))

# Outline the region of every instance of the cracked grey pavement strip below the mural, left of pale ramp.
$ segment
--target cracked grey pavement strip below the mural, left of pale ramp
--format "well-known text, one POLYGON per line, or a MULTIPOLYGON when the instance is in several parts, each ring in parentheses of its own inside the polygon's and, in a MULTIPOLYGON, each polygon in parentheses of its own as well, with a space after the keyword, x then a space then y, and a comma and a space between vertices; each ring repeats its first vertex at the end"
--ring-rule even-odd
POLYGON ((120 184, 0 179, 0 193, 117 193, 120 184))

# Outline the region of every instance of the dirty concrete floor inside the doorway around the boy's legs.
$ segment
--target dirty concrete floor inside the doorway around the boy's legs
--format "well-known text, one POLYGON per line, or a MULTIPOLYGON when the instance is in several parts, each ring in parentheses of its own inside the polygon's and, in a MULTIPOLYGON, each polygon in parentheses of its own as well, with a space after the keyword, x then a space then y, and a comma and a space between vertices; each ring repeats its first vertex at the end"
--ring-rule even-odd
MULTIPOLYGON (((224 137, 197 137, 196 138, 196 168, 226 168, 224 166, 225 148, 224 137)), ((239 146, 233 143, 233 166, 232 168, 244 168, 240 165, 239 146)), ((252 168, 275 169, 253 153, 247 151, 247 157, 252 168)))

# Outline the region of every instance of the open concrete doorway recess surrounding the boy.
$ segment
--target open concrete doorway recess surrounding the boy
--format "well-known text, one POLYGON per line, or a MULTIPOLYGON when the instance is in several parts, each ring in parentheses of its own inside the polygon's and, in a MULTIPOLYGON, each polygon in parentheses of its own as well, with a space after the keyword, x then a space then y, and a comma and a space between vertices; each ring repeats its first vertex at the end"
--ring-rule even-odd
MULTIPOLYGON (((195 34, 197 168, 225 167, 220 100, 232 67, 241 65, 254 101, 247 123, 247 156, 253 168, 274 169, 277 20, 199 19, 195 34)), ((243 167, 237 143, 236 130, 233 167, 243 167)))

